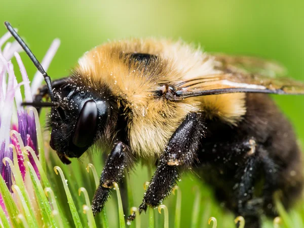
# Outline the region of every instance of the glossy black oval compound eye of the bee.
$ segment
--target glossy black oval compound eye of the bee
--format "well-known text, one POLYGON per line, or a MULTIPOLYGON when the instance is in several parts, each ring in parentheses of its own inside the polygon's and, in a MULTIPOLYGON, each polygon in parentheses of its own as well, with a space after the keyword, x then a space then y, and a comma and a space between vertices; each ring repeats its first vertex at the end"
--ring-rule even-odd
POLYGON ((74 130, 72 143, 77 147, 89 146, 97 131, 98 109, 94 100, 84 104, 74 130))

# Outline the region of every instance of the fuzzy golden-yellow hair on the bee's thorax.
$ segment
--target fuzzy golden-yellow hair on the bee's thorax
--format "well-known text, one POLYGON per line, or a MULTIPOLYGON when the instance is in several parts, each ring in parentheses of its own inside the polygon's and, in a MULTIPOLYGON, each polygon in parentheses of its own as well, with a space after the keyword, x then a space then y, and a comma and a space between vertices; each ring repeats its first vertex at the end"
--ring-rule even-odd
POLYGON ((118 105, 126 107, 130 147, 141 157, 161 155, 189 112, 201 112, 206 118, 218 117, 236 125, 246 111, 244 94, 187 98, 178 102, 154 96, 160 84, 174 86, 183 80, 218 73, 212 57, 182 42, 133 39, 107 43, 80 58, 75 71, 86 78, 86 86, 91 90, 98 90, 104 83, 118 97, 118 105), (130 61, 128 53, 151 54, 157 59, 146 66, 130 61))

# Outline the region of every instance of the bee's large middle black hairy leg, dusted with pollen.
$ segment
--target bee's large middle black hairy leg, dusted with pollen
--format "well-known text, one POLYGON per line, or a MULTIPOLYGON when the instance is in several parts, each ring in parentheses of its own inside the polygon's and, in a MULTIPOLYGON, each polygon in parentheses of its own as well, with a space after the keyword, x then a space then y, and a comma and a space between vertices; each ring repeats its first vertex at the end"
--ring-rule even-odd
MULTIPOLYGON (((147 206, 157 207, 170 195, 176 185, 179 171, 178 166, 189 167, 196 159, 200 141, 204 135, 204 126, 197 113, 189 113, 182 124, 170 138, 159 166, 144 194, 139 212, 146 211, 147 206)), ((128 217, 133 220, 135 213, 128 217)))

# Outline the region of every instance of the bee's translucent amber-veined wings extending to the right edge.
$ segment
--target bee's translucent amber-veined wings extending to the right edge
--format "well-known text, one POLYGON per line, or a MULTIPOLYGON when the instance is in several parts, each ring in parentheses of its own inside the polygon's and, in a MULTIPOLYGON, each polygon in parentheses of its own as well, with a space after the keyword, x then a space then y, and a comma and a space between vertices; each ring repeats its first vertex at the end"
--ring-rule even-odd
POLYGON ((287 77, 275 62, 252 57, 215 55, 221 73, 204 75, 175 86, 176 98, 224 93, 304 94, 304 84, 287 77))

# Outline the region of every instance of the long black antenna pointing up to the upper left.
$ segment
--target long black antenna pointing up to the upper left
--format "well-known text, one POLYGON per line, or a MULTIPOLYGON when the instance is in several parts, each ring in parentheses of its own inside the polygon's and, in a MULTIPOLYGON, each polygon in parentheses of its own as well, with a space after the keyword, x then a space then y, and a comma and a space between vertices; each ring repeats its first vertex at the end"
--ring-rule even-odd
POLYGON ((31 50, 27 47, 27 45, 24 43, 24 41, 21 39, 20 35, 14 30, 12 25, 6 21, 4 22, 5 26, 9 30, 9 32, 12 34, 12 36, 15 38, 15 40, 20 44, 22 49, 25 51, 25 53, 28 55, 30 60, 34 63, 35 67, 42 73, 44 80, 48 87, 48 92, 50 94, 50 98, 52 102, 56 102, 53 90, 52 90, 52 81, 50 76, 47 74, 47 72, 44 70, 41 63, 37 60, 37 58, 34 56, 34 54, 31 52, 31 50))

